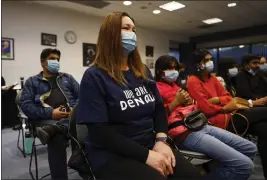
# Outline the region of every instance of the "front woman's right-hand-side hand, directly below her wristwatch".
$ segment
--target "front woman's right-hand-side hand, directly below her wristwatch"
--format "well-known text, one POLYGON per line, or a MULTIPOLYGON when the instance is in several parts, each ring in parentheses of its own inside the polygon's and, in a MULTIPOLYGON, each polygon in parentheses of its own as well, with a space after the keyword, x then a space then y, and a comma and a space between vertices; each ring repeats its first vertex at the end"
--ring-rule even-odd
POLYGON ((173 174, 173 168, 175 167, 175 156, 171 148, 164 142, 157 142, 153 147, 153 151, 162 154, 168 161, 167 164, 167 174, 173 174))

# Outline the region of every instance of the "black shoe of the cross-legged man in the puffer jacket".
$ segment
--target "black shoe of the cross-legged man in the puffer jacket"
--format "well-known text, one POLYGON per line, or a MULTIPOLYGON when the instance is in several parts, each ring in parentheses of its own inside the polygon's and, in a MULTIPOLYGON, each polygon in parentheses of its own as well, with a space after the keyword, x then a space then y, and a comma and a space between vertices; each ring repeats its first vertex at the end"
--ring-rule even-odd
POLYGON ((36 128, 36 135, 43 145, 48 144, 57 134, 66 134, 67 128, 58 125, 46 125, 36 128))

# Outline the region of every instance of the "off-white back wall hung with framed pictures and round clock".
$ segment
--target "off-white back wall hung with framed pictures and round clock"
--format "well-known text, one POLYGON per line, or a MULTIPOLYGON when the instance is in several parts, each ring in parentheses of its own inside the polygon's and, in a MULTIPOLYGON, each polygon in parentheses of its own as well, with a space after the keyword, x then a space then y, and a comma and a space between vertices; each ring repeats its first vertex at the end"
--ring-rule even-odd
MULTIPOLYGON (((41 71, 40 53, 48 46, 41 45, 41 32, 57 35, 57 48, 61 51, 61 71, 71 73, 80 82, 82 43, 96 43, 103 18, 75 11, 23 2, 2 2, 2 37, 15 39, 15 60, 2 60, 2 76, 8 84, 28 78, 41 71), (64 40, 67 30, 76 32, 75 44, 64 40)), ((154 60, 168 54, 169 40, 185 40, 176 35, 138 28, 138 46, 145 62, 145 46, 154 46, 154 60)))

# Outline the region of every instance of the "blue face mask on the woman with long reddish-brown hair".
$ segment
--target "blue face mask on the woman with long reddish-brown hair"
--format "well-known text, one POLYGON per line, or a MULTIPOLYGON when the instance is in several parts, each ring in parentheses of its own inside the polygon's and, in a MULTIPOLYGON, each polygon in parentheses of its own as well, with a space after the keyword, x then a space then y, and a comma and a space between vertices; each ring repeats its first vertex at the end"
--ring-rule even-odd
POLYGON ((121 32, 123 55, 128 56, 136 48, 136 34, 134 32, 121 32))

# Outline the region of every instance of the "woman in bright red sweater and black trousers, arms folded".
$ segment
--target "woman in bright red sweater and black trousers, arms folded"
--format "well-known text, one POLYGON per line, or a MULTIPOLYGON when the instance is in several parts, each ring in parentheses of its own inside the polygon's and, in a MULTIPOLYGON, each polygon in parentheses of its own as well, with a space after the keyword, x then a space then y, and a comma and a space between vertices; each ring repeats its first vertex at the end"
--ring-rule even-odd
POLYGON ((193 75, 187 81, 188 92, 197 101, 198 108, 209 118, 212 125, 235 133, 245 132, 248 128, 248 133, 258 136, 259 154, 264 176, 267 178, 267 109, 253 107, 253 102, 250 101, 248 104, 251 108, 239 111, 248 119, 249 126, 241 116, 233 116, 233 121, 230 121, 233 111, 227 110, 226 107, 232 100, 232 96, 217 78, 211 75, 213 66, 209 51, 200 49, 193 53, 193 75), (233 122, 235 128, 229 122, 233 122))

